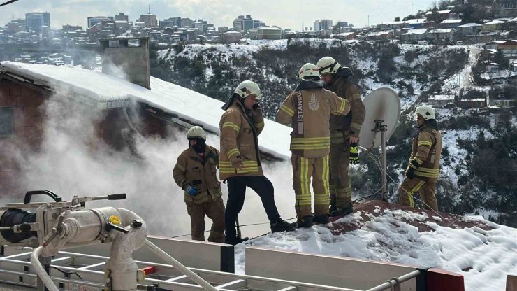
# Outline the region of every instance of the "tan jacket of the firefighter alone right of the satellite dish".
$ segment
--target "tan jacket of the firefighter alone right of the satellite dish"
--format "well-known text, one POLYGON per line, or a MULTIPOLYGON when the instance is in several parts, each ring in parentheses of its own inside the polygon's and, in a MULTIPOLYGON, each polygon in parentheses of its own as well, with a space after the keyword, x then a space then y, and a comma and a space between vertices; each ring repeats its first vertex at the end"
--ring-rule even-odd
POLYGON ((409 166, 415 169, 414 176, 424 178, 438 178, 439 160, 442 156, 442 134, 433 122, 423 125, 413 137, 409 166), (414 164, 418 164, 416 167, 414 164))

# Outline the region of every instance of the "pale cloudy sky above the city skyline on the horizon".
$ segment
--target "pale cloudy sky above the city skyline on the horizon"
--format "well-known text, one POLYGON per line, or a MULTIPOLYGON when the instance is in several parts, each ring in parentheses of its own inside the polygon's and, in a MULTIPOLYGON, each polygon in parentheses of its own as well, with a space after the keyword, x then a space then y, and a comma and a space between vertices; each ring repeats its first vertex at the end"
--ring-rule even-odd
MULTIPOLYGON (((2 3, 4 1, 1 1, 2 3)), ((0 8, 1 24, 14 16, 24 18, 25 13, 50 13, 50 25, 59 28, 64 24, 86 27, 87 16, 112 16, 126 13, 134 21, 140 14, 151 13, 159 20, 168 17, 203 19, 216 27, 232 27, 238 15, 252 15, 269 26, 277 25, 294 30, 312 27, 314 20, 343 21, 356 27, 381 22, 391 22, 426 10, 436 0, 18 0, 0 8), (370 15, 370 17, 368 17, 370 15)))

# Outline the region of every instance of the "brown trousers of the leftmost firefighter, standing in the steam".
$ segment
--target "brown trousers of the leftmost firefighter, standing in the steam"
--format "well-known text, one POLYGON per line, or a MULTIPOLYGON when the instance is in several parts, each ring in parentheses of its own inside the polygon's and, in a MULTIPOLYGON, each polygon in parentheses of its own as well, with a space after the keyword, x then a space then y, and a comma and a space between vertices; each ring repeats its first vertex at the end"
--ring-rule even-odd
POLYGON ((224 203, 221 197, 217 197, 212 201, 212 197, 208 196, 210 201, 194 204, 187 203, 187 213, 190 215, 190 225, 192 239, 196 241, 205 241, 205 215, 212 219, 212 227, 210 228, 210 236, 208 241, 214 243, 224 243, 224 203))

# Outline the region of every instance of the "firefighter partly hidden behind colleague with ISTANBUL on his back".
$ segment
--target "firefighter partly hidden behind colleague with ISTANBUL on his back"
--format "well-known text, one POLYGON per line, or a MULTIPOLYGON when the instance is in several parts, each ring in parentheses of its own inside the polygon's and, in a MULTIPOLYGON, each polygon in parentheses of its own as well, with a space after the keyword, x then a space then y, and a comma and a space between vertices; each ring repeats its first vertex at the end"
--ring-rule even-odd
POLYGON ((316 66, 321 73, 325 88, 347 99, 350 113, 330 115, 330 215, 352 213, 352 188, 349 164, 358 164, 357 143, 365 120, 365 106, 361 94, 349 80, 352 72, 332 57, 322 57, 316 66))

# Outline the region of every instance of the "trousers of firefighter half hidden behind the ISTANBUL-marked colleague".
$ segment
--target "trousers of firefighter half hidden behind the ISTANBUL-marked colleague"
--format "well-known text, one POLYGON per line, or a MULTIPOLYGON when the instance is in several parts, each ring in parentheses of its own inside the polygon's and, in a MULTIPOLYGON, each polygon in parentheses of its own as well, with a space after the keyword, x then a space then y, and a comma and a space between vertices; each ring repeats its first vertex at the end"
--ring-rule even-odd
MULTIPOLYGON (((339 132, 341 134, 341 132, 339 132)), ((334 140, 332 140, 334 141, 334 140)), ((330 205, 345 208, 352 204, 349 178, 350 143, 330 143, 330 205)))

